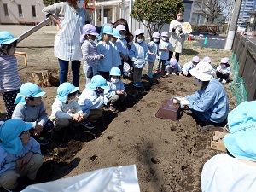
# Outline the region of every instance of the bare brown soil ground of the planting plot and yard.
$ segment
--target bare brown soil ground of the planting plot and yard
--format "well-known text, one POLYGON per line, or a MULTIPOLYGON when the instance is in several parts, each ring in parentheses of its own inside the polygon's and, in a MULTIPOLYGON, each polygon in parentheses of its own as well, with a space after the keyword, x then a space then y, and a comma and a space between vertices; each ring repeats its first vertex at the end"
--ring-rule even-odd
MULTIPOLYGON (((0 31, 8 30, 15 36, 25 32, 28 26, 0 26, 0 31)), ((45 26, 18 44, 18 51, 26 51, 28 67, 23 58, 18 57, 19 73, 22 82, 30 81, 32 72, 49 70, 57 76, 58 64, 53 55, 53 42, 56 29, 45 26)), ((217 64, 230 51, 207 49, 187 42, 180 63, 191 60, 194 55, 200 58, 210 56, 217 64)), ((145 69, 143 70, 145 73, 145 69)), ((70 77, 70 75, 69 75, 70 77)), ((84 89, 85 79, 81 67, 80 89, 84 89)), ((128 97, 119 113, 104 109, 94 130, 79 127, 63 132, 63 140, 42 147, 44 164, 38 172, 36 182, 53 181, 62 177, 72 177, 110 166, 135 164, 141 191, 201 191, 200 179, 203 164, 213 155, 220 153, 210 148, 212 131, 201 132, 189 110, 183 111, 178 121, 159 119, 155 113, 161 103, 173 95, 186 96, 194 93, 199 86, 193 78, 181 76, 143 79, 143 88, 132 86, 130 79, 123 79, 128 97)), ((235 108, 235 98, 229 84, 224 84, 230 99, 230 109, 235 108)), ((55 100, 57 87, 43 87, 43 97, 47 112, 55 100)), ((0 119, 4 119, 5 108, 0 100, 0 119)), ((26 182, 23 183, 24 187, 26 182)))

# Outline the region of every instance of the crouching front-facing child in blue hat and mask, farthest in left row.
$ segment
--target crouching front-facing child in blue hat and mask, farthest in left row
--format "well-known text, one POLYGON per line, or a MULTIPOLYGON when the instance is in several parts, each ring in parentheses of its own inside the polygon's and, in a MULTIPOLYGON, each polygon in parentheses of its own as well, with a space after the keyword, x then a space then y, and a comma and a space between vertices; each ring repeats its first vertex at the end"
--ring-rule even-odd
POLYGON ((123 102, 127 97, 125 92, 125 84, 120 79, 121 70, 113 67, 110 71, 110 81, 107 82, 109 89, 104 90, 104 96, 108 98, 110 111, 116 111, 116 105, 123 102))

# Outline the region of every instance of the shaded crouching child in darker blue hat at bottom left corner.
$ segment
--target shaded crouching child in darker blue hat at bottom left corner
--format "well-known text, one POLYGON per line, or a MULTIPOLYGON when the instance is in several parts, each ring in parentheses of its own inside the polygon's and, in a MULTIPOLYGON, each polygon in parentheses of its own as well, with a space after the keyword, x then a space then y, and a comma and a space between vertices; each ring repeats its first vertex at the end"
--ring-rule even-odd
POLYGON ((9 119, 0 125, 0 187, 16 189, 19 177, 34 180, 43 164, 39 143, 30 137, 32 123, 9 119))

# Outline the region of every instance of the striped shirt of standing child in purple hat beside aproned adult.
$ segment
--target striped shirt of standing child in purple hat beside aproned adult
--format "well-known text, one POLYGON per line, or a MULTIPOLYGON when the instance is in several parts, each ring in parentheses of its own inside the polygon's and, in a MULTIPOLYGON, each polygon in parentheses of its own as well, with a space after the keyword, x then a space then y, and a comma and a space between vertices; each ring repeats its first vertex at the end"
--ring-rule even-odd
POLYGON ((97 67, 101 59, 97 54, 96 44, 93 41, 85 40, 82 44, 82 54, 85 67, 97 67))

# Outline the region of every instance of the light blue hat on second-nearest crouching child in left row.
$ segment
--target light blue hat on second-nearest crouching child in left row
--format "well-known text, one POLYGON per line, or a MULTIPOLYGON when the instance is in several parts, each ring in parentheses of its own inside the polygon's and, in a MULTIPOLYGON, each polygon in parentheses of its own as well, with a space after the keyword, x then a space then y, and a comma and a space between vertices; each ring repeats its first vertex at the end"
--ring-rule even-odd
POLYGON ((21 102, 26 104, 26 97, 40 97, 44 96, 45 92, 38 87, 37 84, 32 84, 30 82, 22 84, 20 87, 20 93, 17 94, 15 99, 15 104, 21 102))

